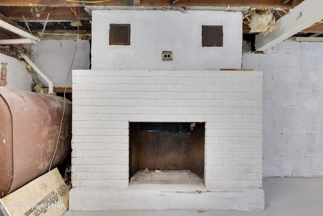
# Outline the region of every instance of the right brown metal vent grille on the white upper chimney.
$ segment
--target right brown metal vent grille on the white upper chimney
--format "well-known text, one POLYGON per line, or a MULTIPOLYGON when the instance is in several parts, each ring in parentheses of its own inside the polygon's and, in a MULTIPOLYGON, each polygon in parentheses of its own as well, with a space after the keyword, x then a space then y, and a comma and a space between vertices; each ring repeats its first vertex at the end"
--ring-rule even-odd
POLYGON ((222 26, 202 26, 202 47, 223 47, 222 26))

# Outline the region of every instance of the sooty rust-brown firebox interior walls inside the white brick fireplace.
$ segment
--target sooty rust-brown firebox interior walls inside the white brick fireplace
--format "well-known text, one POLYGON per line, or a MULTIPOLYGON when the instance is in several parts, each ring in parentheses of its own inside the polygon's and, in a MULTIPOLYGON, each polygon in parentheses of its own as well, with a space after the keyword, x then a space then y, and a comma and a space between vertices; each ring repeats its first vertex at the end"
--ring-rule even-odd
POLYGON ((139 170, 190 170, 204 178, 205 123, 130 122, 129 176, 139 170))

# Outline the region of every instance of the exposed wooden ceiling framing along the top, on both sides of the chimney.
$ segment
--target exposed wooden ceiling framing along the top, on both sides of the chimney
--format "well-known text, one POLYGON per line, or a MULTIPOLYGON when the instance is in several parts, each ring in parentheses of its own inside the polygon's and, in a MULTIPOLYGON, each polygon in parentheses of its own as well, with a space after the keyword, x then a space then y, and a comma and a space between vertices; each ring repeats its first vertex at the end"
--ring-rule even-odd
MULTIPOLYGON (((295 6, 304 1, 312 0, 290 0, 288 2, 283 0, 110 0, 105 2, 99 1, 99 3, 97 3, 97 0, 88 0, 86 3, 84 3, 84 0, 2 0, 0 1, 0 14, 3 16, 0 16, 0 19, 28 31, 23 19, 24 16, 32 34, 40 37, 43 25, 49 13, 48 23, 42 38, 76 38, 75 35, 77 29, 79 29, 82 39, 91 39, 91 10, 180 9, 179 11, 181 12, 185 12, 185 10, 226 10, 246 12, 249 9, 270 9, 274 12, 276 21, 279 21, 282 17, 285 17, 287 13, 291 13, 295 6), (285 2, 285 4, 283 4, 283 2, 285 2), (81 25, 75 23, 75 21, 78 20, 81 25)), ((242 29, 244 33, 249 32, 250 28, 247 22, 244 22, 242 29)), ((323 24, 300 29, 294 36, 311 36, 320 39, 320 37, 323 37, 323 24)), ((0 39, 7 38, 19 38, 19 36, 4 29, 0 29, 0 39)))

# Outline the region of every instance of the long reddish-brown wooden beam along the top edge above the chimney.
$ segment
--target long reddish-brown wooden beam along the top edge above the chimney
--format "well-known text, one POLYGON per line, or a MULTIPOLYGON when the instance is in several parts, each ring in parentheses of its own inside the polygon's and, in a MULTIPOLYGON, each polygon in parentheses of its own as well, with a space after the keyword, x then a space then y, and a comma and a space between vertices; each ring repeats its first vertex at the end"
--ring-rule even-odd
MULTIPOLYGON (((1 0, 0 6, 24 6, 29 7, 30 5, 48 6, 48 7, 67 7, 67 6, 133 6, 137 0, 111 0, 102 3, 77 3, 68 2, 66 0, 1 0)), ((231 7, 251 6, 253 8, 291 8, 292 1, 283 4, 282 0, 180 0, 175 3, 176 6, 225 6, 230 5, 231 7)), ((170 0, 141 0, 140 6, 169 6, 170 0)))

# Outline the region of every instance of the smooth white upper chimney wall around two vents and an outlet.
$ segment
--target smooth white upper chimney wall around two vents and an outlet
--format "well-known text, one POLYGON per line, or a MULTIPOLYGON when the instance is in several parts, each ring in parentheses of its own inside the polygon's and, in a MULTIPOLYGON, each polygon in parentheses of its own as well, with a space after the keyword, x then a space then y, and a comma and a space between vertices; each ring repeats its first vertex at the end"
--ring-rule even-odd
POLYGON ((92 11, 92 69, 219 70, 241 68, 242 13, 92 11), (110 24, 130 24, 130 46, 109 45, 110 24), (202 25, 223 26, 223 47, 202 47, 202 25), (162 61, 163 51, 173 61, 162 61))

